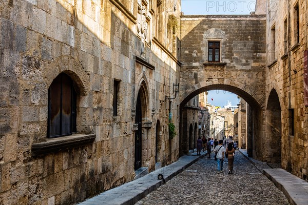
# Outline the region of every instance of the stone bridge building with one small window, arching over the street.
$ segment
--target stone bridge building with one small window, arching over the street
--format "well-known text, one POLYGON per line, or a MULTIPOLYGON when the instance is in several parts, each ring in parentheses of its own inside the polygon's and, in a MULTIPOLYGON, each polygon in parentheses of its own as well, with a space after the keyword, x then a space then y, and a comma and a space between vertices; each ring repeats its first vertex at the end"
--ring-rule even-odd
POLYGON ((180 154, 187 150, 181 141, 181 130, 186 129, 186 103, 202 92, 224 90, 239 95, 249 105, 247 152, 251 157, 266 160, 265 19, 264 15, 181 17, 180 154))

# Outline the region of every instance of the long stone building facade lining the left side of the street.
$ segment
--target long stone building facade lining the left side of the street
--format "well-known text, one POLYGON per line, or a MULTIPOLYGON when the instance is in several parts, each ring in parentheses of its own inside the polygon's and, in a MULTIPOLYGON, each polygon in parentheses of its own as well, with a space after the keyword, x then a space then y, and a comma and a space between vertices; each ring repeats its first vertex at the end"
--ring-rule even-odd
POLYGON ((179 15, 180 1, 1 1, 1 204, 76 203, 178 159, 179 15))

